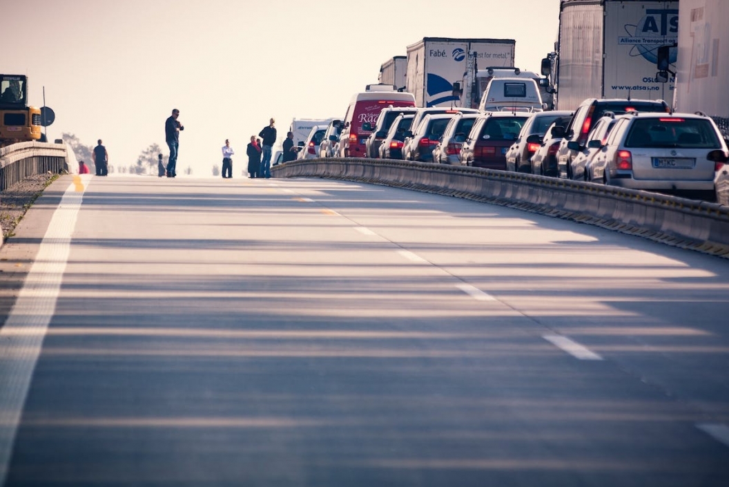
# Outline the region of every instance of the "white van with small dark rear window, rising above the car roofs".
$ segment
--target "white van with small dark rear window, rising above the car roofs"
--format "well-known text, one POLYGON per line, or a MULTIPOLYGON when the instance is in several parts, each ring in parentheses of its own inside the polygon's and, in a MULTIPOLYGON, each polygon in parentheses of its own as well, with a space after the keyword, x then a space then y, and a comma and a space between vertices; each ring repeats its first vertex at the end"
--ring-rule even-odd
POLYGON ((534 79, 493 78, 483 92, 480 112, 542 112, 542 96, 534 79))

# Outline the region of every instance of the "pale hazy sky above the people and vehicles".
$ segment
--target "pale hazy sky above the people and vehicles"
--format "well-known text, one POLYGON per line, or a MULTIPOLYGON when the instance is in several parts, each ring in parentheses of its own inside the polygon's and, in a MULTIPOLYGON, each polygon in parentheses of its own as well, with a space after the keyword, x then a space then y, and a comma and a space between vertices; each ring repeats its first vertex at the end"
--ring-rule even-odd
POLYGON ((168 155, 164 122, 180 110, 178 173, 210 176, 276 118, 343 117, 352 93, 423 37, 515 39, 515 65, 539 71, 553 50, 559 0, 0 0, 0 72, 27 74, 30 101, 56 114, 48 138, 103 139, 111 165, 149 144, 168 155))

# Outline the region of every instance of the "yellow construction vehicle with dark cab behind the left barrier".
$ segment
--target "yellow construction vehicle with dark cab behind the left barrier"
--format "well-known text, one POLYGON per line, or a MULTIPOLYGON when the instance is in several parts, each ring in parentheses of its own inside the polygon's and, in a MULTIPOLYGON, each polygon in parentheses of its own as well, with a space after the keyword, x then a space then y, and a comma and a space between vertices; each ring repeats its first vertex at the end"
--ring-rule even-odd
POLYGON ((28 106, 28 77, 0 74, 0 147, 41 139, 41 111, 28 106))

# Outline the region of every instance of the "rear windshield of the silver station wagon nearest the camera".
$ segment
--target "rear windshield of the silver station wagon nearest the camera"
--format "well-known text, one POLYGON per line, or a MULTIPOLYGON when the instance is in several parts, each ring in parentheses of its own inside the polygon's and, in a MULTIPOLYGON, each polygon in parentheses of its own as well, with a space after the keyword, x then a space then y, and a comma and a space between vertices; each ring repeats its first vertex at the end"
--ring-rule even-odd
POLYGON ((709 120, 666 117, 634 120, 625 147, 717 149, 721 144, 709 120))

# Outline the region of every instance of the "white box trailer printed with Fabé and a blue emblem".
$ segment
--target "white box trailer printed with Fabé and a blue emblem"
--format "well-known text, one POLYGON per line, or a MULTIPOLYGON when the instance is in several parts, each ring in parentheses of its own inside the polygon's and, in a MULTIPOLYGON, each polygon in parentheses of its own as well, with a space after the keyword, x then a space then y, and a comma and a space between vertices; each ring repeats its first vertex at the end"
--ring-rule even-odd
POLYGON ((407 91, 416 106, 469 106, 464 93, 453 94, 470 61, 480 66, 514 66, 514 39, 424 37, 408 46, 407 91))

